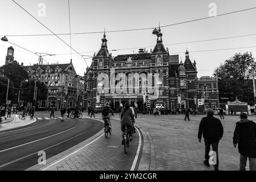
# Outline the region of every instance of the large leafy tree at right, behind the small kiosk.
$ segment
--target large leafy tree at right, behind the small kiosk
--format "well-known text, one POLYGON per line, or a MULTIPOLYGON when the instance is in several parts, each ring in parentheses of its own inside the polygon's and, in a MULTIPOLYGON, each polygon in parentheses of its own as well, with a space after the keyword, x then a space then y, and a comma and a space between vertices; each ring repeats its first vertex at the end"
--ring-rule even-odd
POLYGON ((253 105, 252 69, 255 68, 254 59, 250 54, 236 53, 214 70, 213 75, 218 77, 219 97, 227 97, 230 101, 236 98, 253 105))

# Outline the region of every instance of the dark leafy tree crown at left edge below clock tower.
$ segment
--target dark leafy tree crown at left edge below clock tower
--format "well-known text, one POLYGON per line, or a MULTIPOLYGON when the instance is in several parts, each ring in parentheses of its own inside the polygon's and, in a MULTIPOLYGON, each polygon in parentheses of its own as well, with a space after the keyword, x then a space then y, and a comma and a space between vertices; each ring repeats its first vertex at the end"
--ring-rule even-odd
POLYGON ((28 79, 28 73, 17 63, 9 63, 0 67, 4 76, 10 79, 15 88, 20 88, 20 83, 28 79))

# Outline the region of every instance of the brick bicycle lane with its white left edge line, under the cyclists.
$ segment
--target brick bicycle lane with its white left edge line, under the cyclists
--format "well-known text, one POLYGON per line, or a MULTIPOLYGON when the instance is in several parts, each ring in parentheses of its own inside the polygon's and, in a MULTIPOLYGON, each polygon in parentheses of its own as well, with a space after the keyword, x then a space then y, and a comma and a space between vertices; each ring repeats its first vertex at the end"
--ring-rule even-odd
MULTIPOLYGON (((95 119, 101 120, 101 118, 95 119)), ((138 158, 138 131, 133 135, 133 141, 130 142, 130 147, 128 148, 127 154, 125 154, 122 145, 120 122, 111 119, 111 123, 112 135, 109 135, 108 138, 105 138, 104 130, 102 130, 94 135, 93 138, 85 140, 81 144, 70 148, 71 150, 61 152, 61 154, 49 159, 46 161, 45 166, 42 167, 42 165, 38 164, 27 170, 129 171, 132 167, 134 169, 136 164, 135 159, 138 158)))

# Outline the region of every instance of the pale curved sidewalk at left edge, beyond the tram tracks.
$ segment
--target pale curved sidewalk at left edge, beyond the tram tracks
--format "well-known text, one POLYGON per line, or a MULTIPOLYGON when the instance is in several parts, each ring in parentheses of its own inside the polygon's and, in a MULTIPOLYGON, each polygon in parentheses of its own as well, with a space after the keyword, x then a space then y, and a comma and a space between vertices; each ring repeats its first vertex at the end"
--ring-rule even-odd
POLYGON ((18 114, 11 115, 11 119, 7 118, 6 120, 3 120, 2 125, 0 126, 0 132, 5 130, 14 129, 16 127, 22 127, 26 125, 30 125, 31 123, 36 122, 36 118, 31 119, 29 116, 27 116, 26 119, 19 119, 18 114), (7 119, 9 121, 7 121, 7 119))

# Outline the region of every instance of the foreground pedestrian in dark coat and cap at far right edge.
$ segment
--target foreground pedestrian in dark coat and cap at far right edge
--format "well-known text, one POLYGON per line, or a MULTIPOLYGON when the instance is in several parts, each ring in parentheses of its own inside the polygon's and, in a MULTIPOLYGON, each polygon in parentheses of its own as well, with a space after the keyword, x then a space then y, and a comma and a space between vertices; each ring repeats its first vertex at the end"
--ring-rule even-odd
POLYGON ((233 137, 234 147, 238 143, 240 171, 246 170, 247 158, 249 158, 250 171, 256 171, 256 123, 247 119, 246 113, 241 113, 240 119, 236 123, 233 137))

